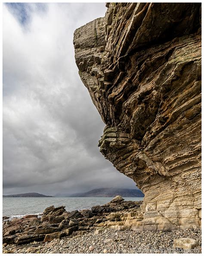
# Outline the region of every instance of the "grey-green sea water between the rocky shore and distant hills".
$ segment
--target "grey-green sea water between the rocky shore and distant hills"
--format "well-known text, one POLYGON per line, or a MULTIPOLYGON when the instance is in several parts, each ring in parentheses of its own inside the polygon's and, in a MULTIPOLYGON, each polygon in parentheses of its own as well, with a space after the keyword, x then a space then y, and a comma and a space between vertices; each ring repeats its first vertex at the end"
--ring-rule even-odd
MULTIPOLYGON (((39 214, 46 207, 65 206, 67 211, 90 209, 94 205, 104 205, 113 197, 10 197, 3 198, 3 216, 20 217, 39 214)), ((141 201, 141 197, 126 197, 126 201, 141 201)))

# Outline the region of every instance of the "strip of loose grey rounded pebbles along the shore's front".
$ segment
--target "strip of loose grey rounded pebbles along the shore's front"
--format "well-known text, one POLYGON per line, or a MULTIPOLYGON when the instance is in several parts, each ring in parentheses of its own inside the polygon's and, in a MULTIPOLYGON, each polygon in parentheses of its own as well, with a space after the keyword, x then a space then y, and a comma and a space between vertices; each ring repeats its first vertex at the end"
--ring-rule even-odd
POLYGON ((54 239, 46 243, 3 246, 3 253, 201 253, 201 230, 186 229, 171 232, 91 230, 81 236, 54 239), (198 246, 189 250, 173 248, 174 239, 181 237, 197 240, 198 246))

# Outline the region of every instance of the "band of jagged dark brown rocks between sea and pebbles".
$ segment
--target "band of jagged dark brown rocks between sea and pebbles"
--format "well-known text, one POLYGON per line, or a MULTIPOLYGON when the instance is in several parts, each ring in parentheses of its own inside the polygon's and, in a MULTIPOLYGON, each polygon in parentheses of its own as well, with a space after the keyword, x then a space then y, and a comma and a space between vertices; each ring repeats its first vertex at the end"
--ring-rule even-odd
POLYGON ((49 242, 63 237, 80 236, 99 227, 116 229, 123 214, 141 211, 142 202, 124 201, 116 196, 105 205, 97 205, 92 210, 65 211, 65 206, 46 208, 40 218, 26 215, 24 218, 3 220, 3 244, 25 244, 32 242, 49 242), (117 218, 114 214, 117 213, 117 218), (111 221, 111 222, 110 222, 111 221), (106 223, 106 224, 105 224, 106 223))

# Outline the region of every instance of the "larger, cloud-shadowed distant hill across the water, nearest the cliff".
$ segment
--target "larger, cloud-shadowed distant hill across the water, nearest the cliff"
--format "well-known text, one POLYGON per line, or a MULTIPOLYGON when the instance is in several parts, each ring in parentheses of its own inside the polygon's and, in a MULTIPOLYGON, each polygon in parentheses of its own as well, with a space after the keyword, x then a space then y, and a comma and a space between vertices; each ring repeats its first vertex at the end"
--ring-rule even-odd
POLYGON ((121 195, 122 197, 144 197, 144 194, 139 189, 118 189, 118 188, 105 188, 93 189, 88 192, 74 193, 74 194, 57 194, 56 196, 67 197, 115 197, 121 195))

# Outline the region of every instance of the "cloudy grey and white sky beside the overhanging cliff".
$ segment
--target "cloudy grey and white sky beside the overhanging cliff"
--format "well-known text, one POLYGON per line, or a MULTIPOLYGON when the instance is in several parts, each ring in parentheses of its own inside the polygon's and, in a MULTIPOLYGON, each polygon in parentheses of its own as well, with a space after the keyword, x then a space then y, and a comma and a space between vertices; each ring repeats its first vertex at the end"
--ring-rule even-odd
POLYGON ((105 3, 3 5, 3 193, 135 188, 97 147, 105 124, 80 80, 73 33, 105 3))

